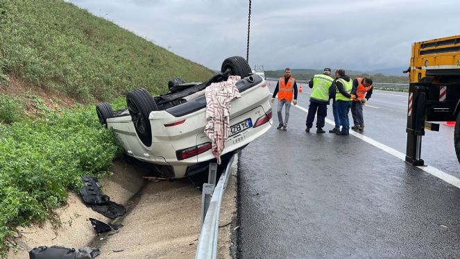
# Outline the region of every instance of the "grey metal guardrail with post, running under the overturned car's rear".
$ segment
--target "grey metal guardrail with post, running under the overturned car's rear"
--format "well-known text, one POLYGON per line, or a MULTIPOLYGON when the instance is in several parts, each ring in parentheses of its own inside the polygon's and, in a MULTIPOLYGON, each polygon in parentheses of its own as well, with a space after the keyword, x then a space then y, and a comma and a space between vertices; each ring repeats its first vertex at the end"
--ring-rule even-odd
POLYGON ((217 258, 217 239, 219 233, 219 216, 221 214, 221 203, 225 187, 227 187, 230 178, 230 169, 232 168, 235 155, 228 161, 225 172, 216 181, 217 165, 210 163, 209 181, 203 184, 203 199, 201 206, 201 233, 198 239, 198 248, 196 249, 196 259, 215 259, 217 258))

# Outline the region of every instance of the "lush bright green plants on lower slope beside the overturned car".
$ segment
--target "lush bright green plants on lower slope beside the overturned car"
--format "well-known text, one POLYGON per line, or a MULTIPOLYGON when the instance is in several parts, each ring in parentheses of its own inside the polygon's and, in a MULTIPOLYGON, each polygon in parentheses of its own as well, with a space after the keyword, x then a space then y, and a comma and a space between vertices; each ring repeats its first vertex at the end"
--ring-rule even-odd
POLYGON ((121 152, 94 106, 0 124, 0 257, 17 226, 48 219, 81 176, 101 176, 121 152))

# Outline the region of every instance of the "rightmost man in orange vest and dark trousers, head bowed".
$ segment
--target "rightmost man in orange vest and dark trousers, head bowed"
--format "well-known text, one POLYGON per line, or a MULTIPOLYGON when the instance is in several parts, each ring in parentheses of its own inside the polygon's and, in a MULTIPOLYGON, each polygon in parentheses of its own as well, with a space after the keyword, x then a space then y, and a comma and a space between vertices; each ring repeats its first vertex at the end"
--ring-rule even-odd
POLYGON ((351 129, 364 131, 363 106, 366 105, 366 101, 372 95, 372 79, 366 77, 356 78, 353 80, 353 88, 356 89, 357 98, 351 104, 351 115, 353 117, 353 124, 355 124, 351 129))

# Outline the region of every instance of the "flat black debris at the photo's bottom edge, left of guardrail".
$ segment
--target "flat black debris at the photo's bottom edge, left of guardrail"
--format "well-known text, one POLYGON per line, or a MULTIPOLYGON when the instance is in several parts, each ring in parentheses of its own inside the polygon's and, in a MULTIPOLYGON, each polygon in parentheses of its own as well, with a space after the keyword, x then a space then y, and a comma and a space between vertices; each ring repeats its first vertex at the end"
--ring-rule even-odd
POLYGON ((99 249, 84 247, 83 249, 74 249, 67 247, 35 247, 28 252, 30 259, 93 259, 99 256, 99 249))

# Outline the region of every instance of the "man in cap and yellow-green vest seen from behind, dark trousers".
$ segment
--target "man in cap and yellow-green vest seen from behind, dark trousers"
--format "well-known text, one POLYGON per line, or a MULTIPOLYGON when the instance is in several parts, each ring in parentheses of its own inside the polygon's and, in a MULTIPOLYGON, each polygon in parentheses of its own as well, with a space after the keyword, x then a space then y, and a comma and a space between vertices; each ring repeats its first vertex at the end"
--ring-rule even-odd
POLYGON ((325 118, 327 116, 327 105, 329 105, 329 90, 334 79, 330 76, 331 69, 325 68, 323 74, 316 74, 308 82, 308 87, 312 88, 310 95, 310 105, 308 106, 307 128, 305 132, 310 132, 316 114, 316 133, 325 133, 323 130, 325 118))

